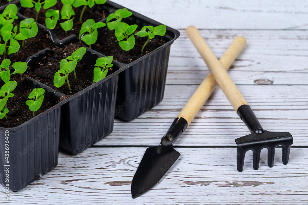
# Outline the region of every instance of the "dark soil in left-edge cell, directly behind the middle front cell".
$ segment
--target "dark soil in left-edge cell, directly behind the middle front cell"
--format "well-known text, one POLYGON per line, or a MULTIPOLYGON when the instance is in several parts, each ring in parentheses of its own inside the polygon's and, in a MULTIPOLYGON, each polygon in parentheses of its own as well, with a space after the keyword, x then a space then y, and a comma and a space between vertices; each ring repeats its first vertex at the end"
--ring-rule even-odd
MULTIPOLYGON (((20 20, 14 20, 13 25, 18 25, 19 30, 20 20)), ((19 31, 18 31, 19 32, 19 31)), ((3 39, 1 39, 1 43, 4 44, 3 39)), ((17 61, 25 62, 27 57, 34 55, 35 53, 45 49, 45 48, 54 48, 55 44, 52 43, 49 35, 44 34, 39 30, 38 34, 33 38, 28 38, 24 42, 24 46, 22 47, 22 41, 18 41, 20 48, 17 53, 12 53, 10 55, 6 55, 6 58, 11 60, 11 64, 17 61)), ((0 64, 3 61, 3 55, 0 57, 0 64)))

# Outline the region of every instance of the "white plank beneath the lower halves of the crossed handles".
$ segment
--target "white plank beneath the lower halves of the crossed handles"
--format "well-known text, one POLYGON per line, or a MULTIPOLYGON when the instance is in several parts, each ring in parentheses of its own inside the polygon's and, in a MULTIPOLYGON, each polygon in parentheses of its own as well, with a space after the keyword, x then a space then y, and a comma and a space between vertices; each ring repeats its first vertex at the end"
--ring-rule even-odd
MULTIPOLYGON (((294 145, 308 146, 308 90, 301 86, 238 86, 269 131, 290 132, 294 145)), ((115 120, 113 132, 95 145, 154 146, 167 132, 174 118, 193 94, 196 86, 166 85, 164 100, 131 122, 115 120), (174 92, 174 91, 177 92, 174 92)), ((236 145, 234 140, 248 134, 245 124, 217 87, 175 145, 236 145)))

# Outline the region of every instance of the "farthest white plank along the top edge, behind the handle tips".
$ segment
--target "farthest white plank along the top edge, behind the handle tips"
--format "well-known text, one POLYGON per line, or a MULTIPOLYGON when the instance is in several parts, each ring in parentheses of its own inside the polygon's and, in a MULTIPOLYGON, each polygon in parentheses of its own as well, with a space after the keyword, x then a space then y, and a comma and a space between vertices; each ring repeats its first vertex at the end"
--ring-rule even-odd
POLYGON ((114 2, 174 28, 186 28, 194 24, 204 29, 307 29, 305 19, 308 17, 308 2, 302 0, 114 2))

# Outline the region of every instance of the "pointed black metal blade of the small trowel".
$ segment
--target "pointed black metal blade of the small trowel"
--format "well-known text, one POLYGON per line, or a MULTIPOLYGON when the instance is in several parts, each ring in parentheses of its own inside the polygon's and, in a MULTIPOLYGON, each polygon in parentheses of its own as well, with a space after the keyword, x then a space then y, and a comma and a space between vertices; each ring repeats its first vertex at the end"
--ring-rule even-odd
POLYGON ((154 187, 179 156, 180 153, 173 148, 166 136, 159 146, 148 148, 132 180, 132 198, 135 199, 154 187))

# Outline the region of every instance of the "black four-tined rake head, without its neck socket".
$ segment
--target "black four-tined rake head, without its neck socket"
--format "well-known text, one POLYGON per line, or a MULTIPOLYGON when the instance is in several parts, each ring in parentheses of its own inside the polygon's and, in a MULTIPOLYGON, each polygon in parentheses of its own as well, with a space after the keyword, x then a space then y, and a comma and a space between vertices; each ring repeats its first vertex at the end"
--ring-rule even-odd
POLYGON ((274 165, 275 148, 282 146, 282 162, 288 164, 290 147, 293 144, 292 135, 289 132, 269 132, 263 130, 260 133, 251 134, 237 138, 237 170, 243 171, 245 153, 253 151, 253 168, 259 168, 261 149, 267 148, 267 164, 269 167, 274 165))

